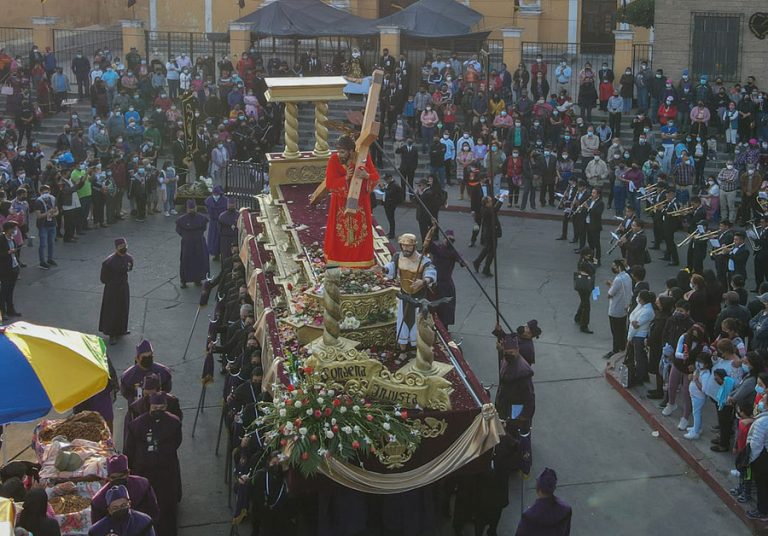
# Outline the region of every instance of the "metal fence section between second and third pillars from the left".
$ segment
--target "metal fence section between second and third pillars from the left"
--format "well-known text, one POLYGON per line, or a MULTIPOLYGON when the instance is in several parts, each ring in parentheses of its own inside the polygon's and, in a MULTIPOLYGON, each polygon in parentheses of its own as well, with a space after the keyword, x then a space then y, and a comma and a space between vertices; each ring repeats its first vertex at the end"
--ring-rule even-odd
POLYGON ((159 60, 163 65, 169 58, 186 54, 193 64, 202 62, 206 75, 217 79, 216 62, 229 56, 229 36, 203 32, 146 32, 149 61, 159 60))

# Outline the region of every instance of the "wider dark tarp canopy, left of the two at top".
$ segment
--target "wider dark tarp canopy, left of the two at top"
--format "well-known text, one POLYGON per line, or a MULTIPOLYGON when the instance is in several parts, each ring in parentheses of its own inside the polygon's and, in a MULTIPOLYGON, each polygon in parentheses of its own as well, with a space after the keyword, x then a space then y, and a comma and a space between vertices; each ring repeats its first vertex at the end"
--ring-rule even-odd
POLYGON ((251 25, 251 32, 274 37, 378 35, 376 21, 356 17, 320 0, 276 0, 236 22, 251 25))

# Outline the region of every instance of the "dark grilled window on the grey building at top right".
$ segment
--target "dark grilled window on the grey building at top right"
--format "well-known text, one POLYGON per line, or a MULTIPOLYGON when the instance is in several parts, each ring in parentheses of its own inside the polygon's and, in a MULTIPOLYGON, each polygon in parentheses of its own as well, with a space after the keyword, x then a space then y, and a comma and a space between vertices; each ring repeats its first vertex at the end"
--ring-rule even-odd
POLYGON ((739 77, 742 15, 692 13, 691 67, 697 75, 739 77))

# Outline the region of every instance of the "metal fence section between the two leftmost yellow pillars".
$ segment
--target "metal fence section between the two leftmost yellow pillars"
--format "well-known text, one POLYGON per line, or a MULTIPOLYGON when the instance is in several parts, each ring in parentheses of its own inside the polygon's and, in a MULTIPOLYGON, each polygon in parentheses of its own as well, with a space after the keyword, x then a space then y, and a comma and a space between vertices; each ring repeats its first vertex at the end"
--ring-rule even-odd
POLYGON ((123 55, 123 32, 120 29, 76 29, 53 30, 53 52, 56 65, 69 78, 70 87, 77 87, 77 79, 72 72, 72 60, 78 53, 88 58, 93 66, 93 57, 97 51, 109 51, 114 59, 123 55))

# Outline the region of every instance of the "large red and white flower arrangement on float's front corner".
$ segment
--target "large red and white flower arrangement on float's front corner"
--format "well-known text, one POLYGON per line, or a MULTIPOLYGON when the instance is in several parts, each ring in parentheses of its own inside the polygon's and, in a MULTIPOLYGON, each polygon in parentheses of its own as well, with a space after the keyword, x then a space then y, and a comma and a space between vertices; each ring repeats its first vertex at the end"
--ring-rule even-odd
POLYGON ((388 445, 419 445, 419 429, 406 409, 334 389, 311 367, 294 371, 289 375, 295 383, 276 385, 274 400, 259 403, 254 427, 264 438, 265 455, 277 451, 281 462, 309 477, 329 458, 362 465, 388 445))

